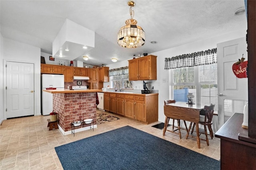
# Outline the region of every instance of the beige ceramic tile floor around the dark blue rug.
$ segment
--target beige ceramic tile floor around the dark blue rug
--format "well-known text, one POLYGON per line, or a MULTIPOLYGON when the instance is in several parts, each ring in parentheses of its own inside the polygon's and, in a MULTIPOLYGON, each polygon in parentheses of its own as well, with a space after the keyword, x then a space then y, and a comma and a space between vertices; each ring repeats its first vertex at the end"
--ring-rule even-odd
MULTIPOLYGON (((98 111, 97 112, 102 112, 98 111)), ((49 131, 47 119, 49 116, 32 116, 4 120, 0 125, 0 170, 62 170, 54 147, 64 145, 79 139, 104 133, 126 125, 140 129, 182 147, 194 150, 216 160, 220 159, 220 139, 214 137, 201 141, 201 149, 197 148, 196 139, 185 139, 186 131, 182 130, 182 139, 174 133, 151 127, 160 122, 145 125, 126 117, 108 113, 119 117, 119 120, 99 124, 97 128, 70 135, 62 135, 59 129, 49 131)), ((169 127, 170 128, 170 127, 169 127)))

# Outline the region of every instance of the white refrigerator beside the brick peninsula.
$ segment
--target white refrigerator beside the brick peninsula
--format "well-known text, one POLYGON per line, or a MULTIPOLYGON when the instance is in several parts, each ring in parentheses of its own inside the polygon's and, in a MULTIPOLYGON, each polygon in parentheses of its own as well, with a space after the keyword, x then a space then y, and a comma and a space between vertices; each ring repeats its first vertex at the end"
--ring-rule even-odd
MULTIPOLYGON (((58 74, 42 74, 41 76, 42 90, 46 90, 52 86, 56 90, 64 90, 64 75, 58 74)), ((53 111, 52 94, 42 91, 42 115, 49 115, 53 111)))

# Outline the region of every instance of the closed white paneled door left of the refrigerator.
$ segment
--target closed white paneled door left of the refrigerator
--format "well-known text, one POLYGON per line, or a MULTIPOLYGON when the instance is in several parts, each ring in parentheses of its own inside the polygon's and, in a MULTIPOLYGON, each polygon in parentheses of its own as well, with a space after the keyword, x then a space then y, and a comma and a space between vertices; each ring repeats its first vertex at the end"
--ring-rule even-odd
POLYGON ((6 118, 34 115, 34 64, 6 62, 6 118))

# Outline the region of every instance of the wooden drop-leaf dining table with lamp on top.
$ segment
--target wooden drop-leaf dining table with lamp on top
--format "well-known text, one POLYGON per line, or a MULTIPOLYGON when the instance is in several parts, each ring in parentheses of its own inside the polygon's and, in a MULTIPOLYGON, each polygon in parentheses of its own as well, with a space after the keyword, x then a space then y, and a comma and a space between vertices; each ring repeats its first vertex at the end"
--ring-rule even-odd
MULTIPOLYGON (((204 105, 188 104, 186 102, 174 102, 174 103, 169 103, 164 105, 165 116, 171 119, 180 119, 184 121, 190 121, 196 124, 196 137, 189 135, 189 131, 187 131, 186 139, 188 138, 188 136, 196 138, 197 146, 199 149, 200 149, 200 138, 199 138, 198 123, 200 121, 200 109, 204 109, 204 105)), ((167 123, 168 123, 167 121, 165 121, 164 123, 164 133, 167 129, 167 123)))

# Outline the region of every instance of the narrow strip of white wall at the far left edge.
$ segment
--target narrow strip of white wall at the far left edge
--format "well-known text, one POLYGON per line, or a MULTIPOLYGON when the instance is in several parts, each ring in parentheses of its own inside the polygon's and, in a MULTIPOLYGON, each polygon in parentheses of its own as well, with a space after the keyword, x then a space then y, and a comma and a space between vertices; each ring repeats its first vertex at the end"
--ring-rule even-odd
POLYGON ((4 120, 4 60, 3 60, 3 37, 0 33, 0 125, 4 120))

